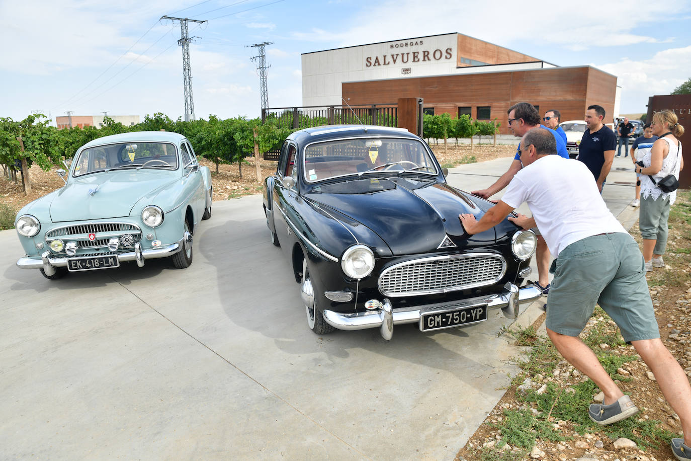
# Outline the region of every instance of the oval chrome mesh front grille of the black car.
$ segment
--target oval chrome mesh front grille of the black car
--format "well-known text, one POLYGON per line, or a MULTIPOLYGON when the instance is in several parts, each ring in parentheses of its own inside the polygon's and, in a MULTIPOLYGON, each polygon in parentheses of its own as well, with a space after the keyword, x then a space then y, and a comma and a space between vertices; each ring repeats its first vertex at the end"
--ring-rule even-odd
POLYGON ((415 259, 381 272, 379 291, 385 296, 401 297, 477 288, 500 281, 506 267, 504 258, 492 253, 415 259))

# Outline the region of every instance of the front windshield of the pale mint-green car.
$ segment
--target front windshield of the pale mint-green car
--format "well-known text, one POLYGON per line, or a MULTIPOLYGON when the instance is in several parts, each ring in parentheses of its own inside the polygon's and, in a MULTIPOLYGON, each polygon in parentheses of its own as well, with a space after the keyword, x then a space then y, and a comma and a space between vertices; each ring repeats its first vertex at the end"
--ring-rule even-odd
POLYGON ((84 149, 74 162, 73 176, 111 169, 177 169, 178 153, 169 142, 123 142, 84 149))

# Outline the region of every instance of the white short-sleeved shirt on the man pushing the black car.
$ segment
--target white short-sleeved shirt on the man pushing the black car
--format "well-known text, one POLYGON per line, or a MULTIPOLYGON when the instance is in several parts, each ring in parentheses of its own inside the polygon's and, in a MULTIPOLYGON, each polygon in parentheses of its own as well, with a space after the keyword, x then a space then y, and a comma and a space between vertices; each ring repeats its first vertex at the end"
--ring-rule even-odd
POLYGON ((514 209, 528 203, 555 258, 585 237, 626 233, 607 209, 593 173, 578 160, 557 155, 539 158, 513 176, 502 202, 514 209))

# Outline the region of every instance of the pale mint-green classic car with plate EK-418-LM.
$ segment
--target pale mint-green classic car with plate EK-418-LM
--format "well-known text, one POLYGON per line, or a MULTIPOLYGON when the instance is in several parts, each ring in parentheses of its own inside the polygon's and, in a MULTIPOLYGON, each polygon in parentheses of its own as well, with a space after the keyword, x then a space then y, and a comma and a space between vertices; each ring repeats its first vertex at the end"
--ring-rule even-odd
POLYGON ((170 257, 192 263, 192 236, 211 217, 211 172, 184 136, 138 131, 84 144, 58 170, 64 187, 23 207, 17 266, 48 279, 66 272, 170 257))

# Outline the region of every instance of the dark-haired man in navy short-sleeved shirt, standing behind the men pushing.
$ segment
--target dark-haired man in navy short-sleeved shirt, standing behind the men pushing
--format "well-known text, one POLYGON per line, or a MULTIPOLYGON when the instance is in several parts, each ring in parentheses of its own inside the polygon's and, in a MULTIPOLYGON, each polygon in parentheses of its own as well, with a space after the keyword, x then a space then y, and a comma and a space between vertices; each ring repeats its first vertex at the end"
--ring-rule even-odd
POLYGON ((578 145, 578 160, 585 163, 585 166, 593 173, 600 194, 609 169, 612 168, 616 148, 614 131, 603 124, 604 119, 605 109, 602 106, 596 104, 588 106, 588 110, 585 111, 587 129, 578 145))

